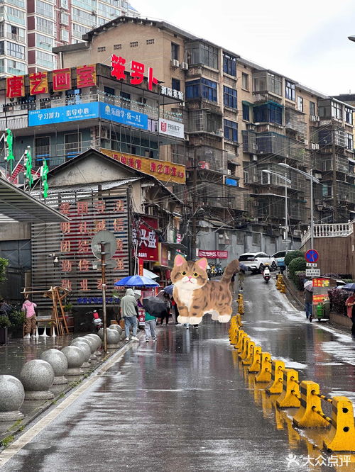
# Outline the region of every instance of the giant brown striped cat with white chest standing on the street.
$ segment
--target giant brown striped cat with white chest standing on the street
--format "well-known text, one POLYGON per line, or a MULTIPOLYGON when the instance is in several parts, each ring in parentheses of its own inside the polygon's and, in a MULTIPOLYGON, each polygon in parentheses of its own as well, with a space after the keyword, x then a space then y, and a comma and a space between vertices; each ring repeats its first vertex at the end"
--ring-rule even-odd
POLYGON ((178 322, 198 325, 202 316, 212 314, 212 320, 221 323, 231 319, 231 277, 239 271, 239 261, 230 262, 221 281, 209 281, 207 276, 207 259, 187 261, 178 254, 171 271, 174 284, 173 297, 180 315, 178 322))

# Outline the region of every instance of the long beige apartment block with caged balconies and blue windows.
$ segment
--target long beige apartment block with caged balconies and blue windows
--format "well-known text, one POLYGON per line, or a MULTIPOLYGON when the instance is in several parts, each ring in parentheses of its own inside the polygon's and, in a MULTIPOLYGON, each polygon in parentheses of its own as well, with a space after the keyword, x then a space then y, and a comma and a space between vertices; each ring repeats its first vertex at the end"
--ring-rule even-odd
POLYGON ((321 181, 314 188, 316 220, 351 218, 351 106, 162 21, 115 18, 83 39, 55 49, 60 67, 104 62, 111 54, 127 63, 149 60, 166 86, 185 91, 185 146, 164 152, 187 165, 197 232, 211 231, 206 221, 219 215, 231 230, 252 218, 277 235, 275 228, 285 227, 286 186, 288 225, 300 235, 310 221, 310 183, 290 167, 312 169, 321 181))

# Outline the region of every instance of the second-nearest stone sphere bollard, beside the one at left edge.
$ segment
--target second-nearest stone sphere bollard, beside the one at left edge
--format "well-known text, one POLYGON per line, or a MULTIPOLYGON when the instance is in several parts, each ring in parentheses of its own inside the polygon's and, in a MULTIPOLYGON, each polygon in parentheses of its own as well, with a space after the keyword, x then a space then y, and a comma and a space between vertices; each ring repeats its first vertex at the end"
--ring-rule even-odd
POLYGON ((20 380, 25 388, 25 400, 50 400, 54 381, 53 367, 41 359, 28 361, 21 369, 20 380))

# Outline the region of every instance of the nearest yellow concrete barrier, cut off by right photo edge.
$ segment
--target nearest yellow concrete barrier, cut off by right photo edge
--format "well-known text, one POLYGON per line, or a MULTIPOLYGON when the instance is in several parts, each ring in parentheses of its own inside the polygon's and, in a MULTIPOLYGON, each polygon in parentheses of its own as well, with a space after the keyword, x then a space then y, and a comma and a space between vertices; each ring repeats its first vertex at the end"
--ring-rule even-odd
POLYGON ((349 398, 332 399, 332 422, 323 444, 329 451, 355 452, 354 409, 349 398))

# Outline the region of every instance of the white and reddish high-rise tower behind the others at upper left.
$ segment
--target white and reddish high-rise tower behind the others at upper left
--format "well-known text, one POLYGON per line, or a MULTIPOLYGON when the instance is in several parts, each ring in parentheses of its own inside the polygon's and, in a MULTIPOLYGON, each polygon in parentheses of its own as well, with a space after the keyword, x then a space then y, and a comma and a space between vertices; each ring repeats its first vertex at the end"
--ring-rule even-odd
POLYGON ((125 0, 1 1, 0 77, 55 69, 53 47, 124 14, 138 16, 125 0))

